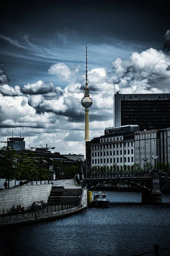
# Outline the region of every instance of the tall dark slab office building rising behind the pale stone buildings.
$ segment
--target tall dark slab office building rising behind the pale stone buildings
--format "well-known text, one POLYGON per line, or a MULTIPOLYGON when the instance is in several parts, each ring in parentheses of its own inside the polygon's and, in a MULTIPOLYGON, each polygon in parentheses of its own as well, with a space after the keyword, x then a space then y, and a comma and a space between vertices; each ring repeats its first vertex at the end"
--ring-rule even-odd
POLYGON ((170 127, 170 93, 113 96, 113 126, 139 125, 140 131, 170 127))

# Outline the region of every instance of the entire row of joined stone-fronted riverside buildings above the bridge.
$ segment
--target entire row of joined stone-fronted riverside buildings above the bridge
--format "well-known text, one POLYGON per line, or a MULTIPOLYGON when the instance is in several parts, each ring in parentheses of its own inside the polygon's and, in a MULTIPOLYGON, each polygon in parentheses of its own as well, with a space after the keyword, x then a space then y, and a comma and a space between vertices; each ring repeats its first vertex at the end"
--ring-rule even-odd
POLYGON ((150 170, 156 162, 170 164, 170 128, 139 131, 138 125, 105 129, 105 135, 86 143, 86 172, 95 166, 133 166, 150 170))

